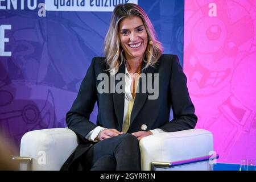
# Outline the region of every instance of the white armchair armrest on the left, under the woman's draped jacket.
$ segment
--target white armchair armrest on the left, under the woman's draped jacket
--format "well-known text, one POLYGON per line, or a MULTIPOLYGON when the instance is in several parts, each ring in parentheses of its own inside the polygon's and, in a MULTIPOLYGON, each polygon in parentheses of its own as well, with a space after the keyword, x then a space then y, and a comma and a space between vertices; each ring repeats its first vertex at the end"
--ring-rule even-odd
POLYGON ((21 170, 60 170, 77 144, 76 134, 67 128, 29 131, 21 139, 20 157, 14 160, 32 159, 31 166, 20 163, 21 170))

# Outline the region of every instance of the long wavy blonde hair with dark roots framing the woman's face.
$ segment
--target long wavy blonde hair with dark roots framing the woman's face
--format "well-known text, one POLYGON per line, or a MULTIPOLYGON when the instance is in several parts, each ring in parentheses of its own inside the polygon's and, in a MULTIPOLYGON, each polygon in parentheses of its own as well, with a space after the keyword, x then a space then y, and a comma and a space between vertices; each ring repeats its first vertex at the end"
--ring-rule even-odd
POLYGON ((146 60, 147 63, 143 69, 146 69, 148 66, 154 67, 155 63, 163 53, 162 44, 156 38, 155 29, 144 10, 133 3, 117 5, 113 11, 104 43, 106 64, 109 66, 107 71, 112 75, 118 72, 119 65, 125 61, 125 56, 123 55, 122 46, 119 40, 119 23, 123 19, 131 16, 138 16, 142 19, 148 35, 147 48, 144 53, 144 60, 146 60), (152 41, 152 45, 149 44, 150 41, 152 41))

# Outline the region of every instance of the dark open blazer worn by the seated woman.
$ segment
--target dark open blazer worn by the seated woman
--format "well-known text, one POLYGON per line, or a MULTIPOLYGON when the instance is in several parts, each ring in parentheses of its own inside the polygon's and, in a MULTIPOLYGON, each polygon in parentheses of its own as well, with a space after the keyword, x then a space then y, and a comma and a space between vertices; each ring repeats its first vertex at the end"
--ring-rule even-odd
MULTIPOLYGON (((142 67, 144 67, 143 63, 142 67)), ((63 169, 68 169, 81 154, 88 150, 93 142, 85 136, 97 125, 109 129, 122 130, 124 93, 98 93, 97 80, 100 73, 110 74, 105 63, 105 57, 94 57, 84 80, 82 80, 79 93, 71 110, 67 113, 67 126, 75 131, 81 139, 81 144, 72 154, 63 169), (98 105, 97 125, 89 121, 95 102, 98 105)), ((117 73, 125 73, 125 64, 122 63, 117 73)), ((130 127, 127 133, 141 131, 141 125, 147 126, 147 131, 162 129, 167 132, 193 129, 197 122, 195 108, 187 89, 187 78, 179 64, 176 55, 162 55, 155 67, 143 69, 142 73, 159 73, 159 96, 156 100, 148 100, 146 93, 136 93, 133 110, 131 111, 130 127), (172 108, 174 119, 169 121, 172 108)), ((115 81, 117 84, 118 81, 115 81)), ((153 79, 154 82, 154 79, 153 79)), ((141 79, 139 84, 142 84, 141 79)), ((153 84, 154 85, 154 84, 153 84)), ((141 85, 142 86, 142 85, 141 85)), ((142 88, 140 86, 140 88, 142 88)), ((110 87, 110 86, 109 86, 110 87)), ((151 94, 152 95, 152 94, 151 94)), ((77 166, 77 165, 76 165, 77 166)))

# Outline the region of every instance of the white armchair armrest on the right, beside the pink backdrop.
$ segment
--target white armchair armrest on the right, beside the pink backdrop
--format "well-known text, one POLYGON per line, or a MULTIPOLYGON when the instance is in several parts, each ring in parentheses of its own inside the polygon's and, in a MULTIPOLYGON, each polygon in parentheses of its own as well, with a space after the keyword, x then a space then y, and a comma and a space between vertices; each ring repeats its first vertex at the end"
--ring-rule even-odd
MULTIPOLYGON (((213 151, 213 136, 207 130, 192 129, 160 133, 144 137, 139 142, 141 168, 150 170, 151 162, 183 161, 208 156, 213 151)), ((208 161, 168 168, 169 170, 210 170, 208 161)), ((157 168, 156 168, 157 169, 157 168)))

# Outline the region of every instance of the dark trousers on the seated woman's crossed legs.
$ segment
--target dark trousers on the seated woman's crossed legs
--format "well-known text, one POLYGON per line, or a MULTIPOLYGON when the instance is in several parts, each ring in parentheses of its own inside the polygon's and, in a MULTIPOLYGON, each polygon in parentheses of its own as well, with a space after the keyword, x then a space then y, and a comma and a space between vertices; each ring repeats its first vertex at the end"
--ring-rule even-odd
POLYGON ((85 168, 94 171, 139 171, 139 141, 131 134, 111 137, 94 144, 82 160, 85 168))

